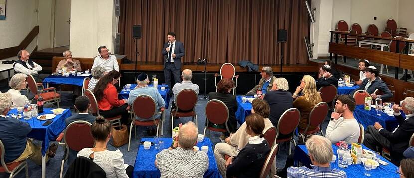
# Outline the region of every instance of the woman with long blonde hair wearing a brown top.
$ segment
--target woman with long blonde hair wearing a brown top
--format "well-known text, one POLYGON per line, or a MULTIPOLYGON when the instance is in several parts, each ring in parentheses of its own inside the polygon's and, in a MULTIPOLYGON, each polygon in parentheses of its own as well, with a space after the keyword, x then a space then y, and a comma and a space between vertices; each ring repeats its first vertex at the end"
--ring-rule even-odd
MULTIPOLYGON (((303 76, 300 80, 300 85, 296 87, 293 93, 293 107, 300 111, 299 128, 306 129, 308 126, 308 116, 310 111, 316 104, 322 101, 321 94, 316 91, 315 79, 309 75, 303 76), (301 96, 299 94, 302 93, 301 96)), ((308 130, 313 130, 315 127, 309 127, 308 130)))

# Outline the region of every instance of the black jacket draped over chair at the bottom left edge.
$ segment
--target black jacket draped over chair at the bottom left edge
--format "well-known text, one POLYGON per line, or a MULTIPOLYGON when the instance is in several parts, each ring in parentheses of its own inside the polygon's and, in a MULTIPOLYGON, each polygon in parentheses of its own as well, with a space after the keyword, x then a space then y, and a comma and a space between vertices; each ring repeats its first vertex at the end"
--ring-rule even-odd
POLYGON ((91 159, 81 156, 69 166, 64 178, 106 178, 106 173, 91 159))

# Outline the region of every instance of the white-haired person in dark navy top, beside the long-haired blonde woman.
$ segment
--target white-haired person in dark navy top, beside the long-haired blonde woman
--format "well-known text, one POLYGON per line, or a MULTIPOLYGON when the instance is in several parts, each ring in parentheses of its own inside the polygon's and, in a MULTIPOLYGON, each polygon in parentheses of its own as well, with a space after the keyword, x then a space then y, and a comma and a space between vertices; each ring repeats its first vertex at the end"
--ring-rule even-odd
POLYGON ((264 96, 264 100, 270 106, 269 119, 277 128, 280 116, 293 107, 292 93, 289 91, 289 83, 283 77, 279 77, 273 81, 272 89, 264 96))

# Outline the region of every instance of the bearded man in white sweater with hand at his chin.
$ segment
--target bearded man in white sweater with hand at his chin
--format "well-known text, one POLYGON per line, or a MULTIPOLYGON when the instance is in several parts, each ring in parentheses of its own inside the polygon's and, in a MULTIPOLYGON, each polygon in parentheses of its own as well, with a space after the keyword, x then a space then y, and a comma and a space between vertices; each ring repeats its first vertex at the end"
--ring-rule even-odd
POLYGON ((325 134, 325 137, 332 143, 337 143, 341 140, 348 143, 358 142, 360 128, 352 113, 354 109, 355 99, 350 95, 340 95, 337 97, 335 112, 331 114, 331 121, 329 121, 325 134))

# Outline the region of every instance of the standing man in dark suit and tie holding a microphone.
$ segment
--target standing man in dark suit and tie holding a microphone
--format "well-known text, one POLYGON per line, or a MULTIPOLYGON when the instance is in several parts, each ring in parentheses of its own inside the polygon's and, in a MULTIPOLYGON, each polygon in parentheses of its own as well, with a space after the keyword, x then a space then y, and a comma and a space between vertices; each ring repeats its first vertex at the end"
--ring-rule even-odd
POLYGON ((181 69, 181 57, 184 56, 184 45, 182 42, 176 40, 176 34, 173 32, 167 33, 167 43, 164 43, 163 56, 164 56, 164 78, 168 87, 170 88, 170 94, 172 93, 171 73, 173 73, 174 84, 181 82, 180 69, 181 69))

